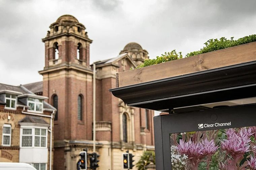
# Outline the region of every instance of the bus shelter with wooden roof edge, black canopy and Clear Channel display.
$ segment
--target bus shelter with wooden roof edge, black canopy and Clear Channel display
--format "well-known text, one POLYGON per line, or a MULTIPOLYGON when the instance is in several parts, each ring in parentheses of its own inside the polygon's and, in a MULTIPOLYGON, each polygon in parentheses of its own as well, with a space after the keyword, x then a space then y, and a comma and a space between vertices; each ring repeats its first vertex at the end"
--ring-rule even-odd
MULTIPOLYGON (((157 170, 175 169, 175 154, 188 169, 209 169, 216 154, 231 153, 224 147, 229 135, 239 139, 247 130, 246 147, 256 145, 256 42, 118 73, 110 91, 127 105, 169 113, 154 117, 157 170)), ((246 169, 252 150, 216 166, 246 169)))

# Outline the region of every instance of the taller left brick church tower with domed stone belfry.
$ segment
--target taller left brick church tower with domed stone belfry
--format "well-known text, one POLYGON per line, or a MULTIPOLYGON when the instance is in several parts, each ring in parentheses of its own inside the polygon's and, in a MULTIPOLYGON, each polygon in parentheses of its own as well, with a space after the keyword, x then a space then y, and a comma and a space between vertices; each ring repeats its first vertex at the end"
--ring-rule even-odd
MULTIPOLYGON (((63 15, 50 26, 45 44, 43 95, 57 108, 54 120, 54 169, 65 169, 61 155, 68 157, 76 140, 92 140, 92 76, 90 44, 83 24, 63 15), (57 167, 57 168, 56 168, 57 167)), ((71 157, 71 156, 70 156, 71 157)), ((64 159, 64 158, 63 158, 64 159)))

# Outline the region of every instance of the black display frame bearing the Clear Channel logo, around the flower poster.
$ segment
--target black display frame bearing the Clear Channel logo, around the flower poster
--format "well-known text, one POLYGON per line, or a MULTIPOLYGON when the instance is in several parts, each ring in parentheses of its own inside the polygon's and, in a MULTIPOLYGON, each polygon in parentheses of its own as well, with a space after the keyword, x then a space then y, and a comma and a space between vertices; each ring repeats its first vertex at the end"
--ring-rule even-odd
POLYGON ((248 104, 155 116, 156 169, 171 169, 170 134, 256 126, 255 112, 256 104, 248 104), (225 124, 227 126, 199 128, 200 124, 212 125, 215 123, 217 123, 216 125, 227 123, 225 124))

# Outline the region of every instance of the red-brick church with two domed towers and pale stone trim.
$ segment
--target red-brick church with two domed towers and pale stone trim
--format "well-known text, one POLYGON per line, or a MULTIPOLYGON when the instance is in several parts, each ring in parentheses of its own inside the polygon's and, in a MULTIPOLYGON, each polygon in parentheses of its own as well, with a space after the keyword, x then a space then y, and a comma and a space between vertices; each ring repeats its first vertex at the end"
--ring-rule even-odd
MULTIPOLYGON (((42 39, 45 67, 43 81, 24 86, 48 97, 58 111, 54 119, 55 170, 73 170, 79 152, 93 146, 93 69, 90 44, 83 24, 63 15, 50 25, 42 39)), ((116 73, 134 68, 148 59, 147 50, 128 43, 117 56, 96 64, 96 151, 99 170, 123 169, 122 153, 129 150, 135 162, 145 150, 154 150, 153 110, 130 107, 108 89, 116 87, 116 73)), ((134 169, 136 169, 134 167, 134 169)))

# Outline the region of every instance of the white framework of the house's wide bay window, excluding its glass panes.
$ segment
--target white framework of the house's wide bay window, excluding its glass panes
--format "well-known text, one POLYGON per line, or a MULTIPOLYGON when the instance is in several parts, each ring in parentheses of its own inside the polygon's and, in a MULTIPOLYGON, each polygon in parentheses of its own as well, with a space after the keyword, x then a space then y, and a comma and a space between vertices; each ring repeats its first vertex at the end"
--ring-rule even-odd
POLYGON ((22 126, 20 128, 20 148, 47 148, 48 145, 48 128, 41 126, 22 126), (32 129, 32 134, 23 134, 23 129, 32 129), (35 135, 35 129, 40 129, 40 135, 35 135), (45 129, 45 135, 41 135, 41 129, 45 129), (22 137, 23 136, 32 136, 32 146, 22 146, 22 137), (39 146, 35 146, 35 137, 40 137, 39 146), (41 147, 41 137, 45 137, 45 146, 41 147))

